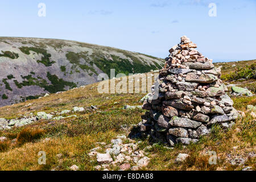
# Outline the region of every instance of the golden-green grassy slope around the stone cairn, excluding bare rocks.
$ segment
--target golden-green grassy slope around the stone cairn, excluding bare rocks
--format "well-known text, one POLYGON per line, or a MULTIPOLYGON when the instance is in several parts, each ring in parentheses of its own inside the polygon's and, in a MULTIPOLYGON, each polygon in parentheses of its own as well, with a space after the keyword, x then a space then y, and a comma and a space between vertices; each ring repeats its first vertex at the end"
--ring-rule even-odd
MULTIPOLYGON (((255 61, 241 62, 241 66, 243 63, 252 64, 255 61)), ((224 77, 234 72, 230 68, 232 64, 237 63, 217 64, 223 66, 224 77)), ((255 78, 242 82, 227 79, 225 82, 248 84, 250 88, 249 82, 255 82, 255 78)), ((138 101, 144 94, 99 94, 97 85, 95 83, 80 89, 51 94, 38 100, 1 107, 0 118, 8 119, 36 114, 38 111, 56 114, 62 110, 72 110, 74 106, 86 109, 74 113, 77 118, 65 118, 60 121, 39 120, 31 125, 0 131, 0 137, 7 137, 7 140, 0 144, 0 169, 70 170, 69 167, 76 164, 80 170, 95 170, 94 167, 98 164, 95 156, 88 155, 90 150, 101 147, 98 152, 105 152, 112 139, 118 135, 127 137, 135 130, 133 125, 141 121, 145 112, 141 109, 123 109, 124 105, 141 105, 138 101), (92 109, 91 105, 97 106, 98 110, 92 109), (29 134, 31 138, 23 137, 24 134, 29 134), (16 142, 13 139, 16 139, 16 142), (106 144, 102 146, 97 142, 106 144), (46 151, 46 165, 38 164, 39 151, 46 151)), ((152 145, 145 138, 125 139, 123 143, 137 144, 137 150, 144 151, 144 155, 151 159, 148 166, 142 168, 145 170, 241 170, 245 167, 255 170, 255 119, 250 115, 250 111, 246 111, 246 106, 256 105, 256 96, 232 99, 234 107, 244 111, 245 117, 237 119, 236 126, 228 131, 218 126, 214 127, 213 132, 201 138, 197 144, 189 144, 185 148, 177 145, 173 149, 155 144, 145 150, 145 147, 152 145), (208 151, 216 152, 216 165, 208 163, 208 151), (175 159, 179 153, 189 154, 190 157, 184 162, 176 163, 175 159)), ((134 162, 129 163, 131 166, 135 165, 134 162)), ((108 169, 118 170, 119 167, 109 166, 108 169)))

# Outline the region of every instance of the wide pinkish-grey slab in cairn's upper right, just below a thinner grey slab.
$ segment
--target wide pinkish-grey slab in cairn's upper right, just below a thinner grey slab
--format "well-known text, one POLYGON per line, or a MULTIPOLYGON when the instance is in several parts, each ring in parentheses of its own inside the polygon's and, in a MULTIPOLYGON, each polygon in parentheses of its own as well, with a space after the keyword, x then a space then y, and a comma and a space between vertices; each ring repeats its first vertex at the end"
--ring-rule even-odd
MULTIPOLYGON (((218 77, 212 74, 201 74, 197 75, 197 73, 188 73, 185 81, 188 82, 199 82, 202 84, 210 84, 214 81, 217 81, 218 77)), ((191 90, 192 91, 192 90, 191 90)))

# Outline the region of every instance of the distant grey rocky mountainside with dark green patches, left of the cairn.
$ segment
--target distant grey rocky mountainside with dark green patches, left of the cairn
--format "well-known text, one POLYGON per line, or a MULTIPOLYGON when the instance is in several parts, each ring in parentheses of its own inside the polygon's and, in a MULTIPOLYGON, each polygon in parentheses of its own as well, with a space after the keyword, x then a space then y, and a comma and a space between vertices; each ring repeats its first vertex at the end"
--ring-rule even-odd
POLYGON ((68 40, 0 38, 0 106, 97 82, 100 73, 144 73, 164 60, 68 40))

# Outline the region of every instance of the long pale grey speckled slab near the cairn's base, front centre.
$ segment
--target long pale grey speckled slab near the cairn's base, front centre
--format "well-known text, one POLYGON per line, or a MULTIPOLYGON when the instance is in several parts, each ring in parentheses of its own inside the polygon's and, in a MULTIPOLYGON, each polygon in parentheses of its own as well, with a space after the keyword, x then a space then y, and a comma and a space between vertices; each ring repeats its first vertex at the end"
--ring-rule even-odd
POLYGON ((201 126, 202 123, 199 121, 193 121, 188 118, 180 118, 180 117, 172 117, 170 121, 171 126, 176 127, 188 127, 192 129, 196 129, 197 127, 201 126))

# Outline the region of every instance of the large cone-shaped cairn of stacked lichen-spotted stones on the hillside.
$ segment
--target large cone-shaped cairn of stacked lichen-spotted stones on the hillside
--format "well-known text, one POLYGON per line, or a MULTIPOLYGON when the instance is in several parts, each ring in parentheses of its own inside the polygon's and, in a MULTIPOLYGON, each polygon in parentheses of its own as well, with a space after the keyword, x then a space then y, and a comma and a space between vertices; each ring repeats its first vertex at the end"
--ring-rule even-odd
POLYGON ((152 94, 143 103, 149 110, 142 117, 139 129, 155 141, 196 143, 210 133, 213 125, 225 129, 234 125, 238 111, 225 93, 228 88, 220 80, 221 69, 198 52, 196 44, 187 36, 170 49, 166 64, 160 69, 158 98, 152 94))

